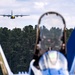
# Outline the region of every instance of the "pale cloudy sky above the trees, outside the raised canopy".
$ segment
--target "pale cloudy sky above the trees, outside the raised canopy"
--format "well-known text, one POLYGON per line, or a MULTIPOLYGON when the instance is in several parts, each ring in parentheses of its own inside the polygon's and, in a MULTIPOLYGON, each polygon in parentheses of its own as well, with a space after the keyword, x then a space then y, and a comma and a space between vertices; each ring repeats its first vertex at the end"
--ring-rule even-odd
POLYGON ((25 25, 36 25, 39 17, 47 11, 60 13, 66 21, 68 28, 75 26, 75 0, 1 0, 0 14, 25 14, 30 16, 15 18, 0 16, 0 27, 9 29, 25 25))

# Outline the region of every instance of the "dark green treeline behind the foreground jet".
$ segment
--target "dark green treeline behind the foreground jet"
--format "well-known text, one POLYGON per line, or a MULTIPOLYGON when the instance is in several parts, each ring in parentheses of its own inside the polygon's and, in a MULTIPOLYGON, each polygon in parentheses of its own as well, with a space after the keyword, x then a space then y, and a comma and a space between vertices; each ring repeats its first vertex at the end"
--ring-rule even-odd
MULTIPOLYGON (((67 29, 67 39, 73 29, 67 29)), ((22 30, 6 27, 0 28, 0 44, 13 73, 28 71, 29 63, 33 58, 36 41, 36 26, 25 26, 22 30)))

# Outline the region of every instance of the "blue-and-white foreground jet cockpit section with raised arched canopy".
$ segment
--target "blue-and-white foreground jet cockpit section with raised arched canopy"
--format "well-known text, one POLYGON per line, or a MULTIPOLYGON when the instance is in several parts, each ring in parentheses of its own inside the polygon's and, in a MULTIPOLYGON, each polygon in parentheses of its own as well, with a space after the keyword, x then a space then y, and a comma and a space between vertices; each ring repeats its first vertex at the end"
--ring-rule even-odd
POLYGON ((65 20, 59 13, 52 11, 41 15, 37 24, 34 59, 30 62, 34 75, 69 75, 65 29, 65 20))

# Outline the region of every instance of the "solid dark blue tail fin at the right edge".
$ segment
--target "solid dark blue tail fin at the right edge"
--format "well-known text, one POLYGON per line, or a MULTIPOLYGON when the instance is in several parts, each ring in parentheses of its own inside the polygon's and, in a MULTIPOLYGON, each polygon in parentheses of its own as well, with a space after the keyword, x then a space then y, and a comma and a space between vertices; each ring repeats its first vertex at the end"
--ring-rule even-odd
POLYGON ((73 29, 67 42, 67 60, 69 71, 71 70, 74 56, 75 56, 75 28, 73 29))

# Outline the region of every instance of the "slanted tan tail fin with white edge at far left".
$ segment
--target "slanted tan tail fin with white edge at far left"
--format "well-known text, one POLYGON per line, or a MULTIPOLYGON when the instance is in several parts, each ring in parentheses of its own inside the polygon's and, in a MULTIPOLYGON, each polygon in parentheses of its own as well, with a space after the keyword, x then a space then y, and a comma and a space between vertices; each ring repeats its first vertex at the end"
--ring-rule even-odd
POLYGON ((0 65, 1 65, 3 75, 13 75, 8 65, 8 62, 6 60, 6 57, 4 55, 1 45, 0 45, 0 65))

